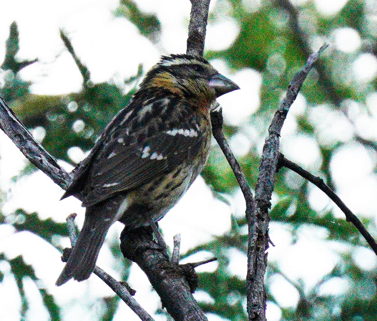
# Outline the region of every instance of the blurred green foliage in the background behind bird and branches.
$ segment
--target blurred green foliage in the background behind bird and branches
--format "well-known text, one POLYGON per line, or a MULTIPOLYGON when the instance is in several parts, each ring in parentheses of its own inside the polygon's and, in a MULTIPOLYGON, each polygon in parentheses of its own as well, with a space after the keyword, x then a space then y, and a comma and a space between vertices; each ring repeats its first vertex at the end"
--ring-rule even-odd
MULTIPOLYGON (((375 121, 375 112, 368 109, 366 100, 376 94, 377 79, 360 81, 354 76, 354 63, 358 58, 370 55, 376 59, 377 55, 377 20, 372 2, 349 0, 338 12, 328 15, 321 13, 313 1, 302 2, 300 5, 293 5, 287 0, 261 1, 259 5, 257 3, 253 2, 253 5, 250 5, 247 1, 218 0, 210 12, 210 23, 221 23, 226 15, 238 25, 239 34, 227 49, 208 50, 205 53, 208 59, 218 58, 226 61, 234 72, 251 68, 262 77, 259 109, 240 125, 224 126, 228 138, 241 133, 250 141, 248 152, 239 159, 251 186, 256 184, 261 142, 266 135, 271 116, 294 73, 320 44, 324 41, 334 41, 336 32, 340 29, 350 28, 360 37, 361 45, 353 51, 342 51, 336 46, 325 51, 301 90, 310 108, 294 116, 296 130, 293 135, 300 134, 312 138, 319 149, 320 159, 317 159, 317 165, 312 167, 316 169, 314 174, 322 177, 329 186, 336 189, 330 164, 340 148, 358 143, 365 147, 371 157, 377 152, 377 139, 363 134, 360 126, 357 127, 355 124, 356 117, 375 121), (356 112, 354 109, 352 111, 355 104, 356 112), (326 106, 325 113, 320 115, 321 119, 313 121, 310 112, 319 108, 318 106, 326 106), (321 122, 331 118, 333 113, 342 116, 351 126, 351 138, 333 134, 332 124, 326 128, 327 131, 321 127, 321 122)), ((129 0, 121 0, 114 14, 131 21, 141 35, 159 45, 163 21, 159 21, 157 15, 141 11, 137 2, 129 0)), ((43 128, 45 134, 42 144, 51 154, 74 164, 68 156, 69 149, 80 147, 87 151, 92 147, 101 129, 129 102, 135 89, 127 94, 124 94, 124 89, 138 81, 143 69, 140 66, 137 75, 126 79, 124 87, 111 82, 93 84, 90 81, 89 70, 76 56, 69 37, 61 32, 61 38, 83 76, 81 92, 64 96, 40 96, 29 93, 30 84, 18 76, 18 71, 36 60, 18 61, 18 31, 15 23, 11 24, 9 38, 6 41, 5 60, 1 65, 3 71, 0 92, 26 127, 43 128)), ((335 119, 334 123, 339 119, 335 119)), ((32 167, 28 168, 30 170, 32 167)), ((234 175, 216 146, 211 151, 203 176, 219 199, 231 198, 238 193, 234 175)), ((309 183, 300 181, 288 170, 280 170, 276 175, 271 220, 273 224, 290 232, 292 245, 298 242, 306 228, 325 231, 325 236, 319 238, 328 244, 339 245, 338 249, 334 250, 338 260, 330 272, 310 287, 305 285, 303 280, 291 280, 287 277, 280 269, 279 262, 270 262, 266 275, 268 301, 280 309, 281 320, 284 321, 375 320, 377 275, 373 270, 368 271, 359 267, 352 254, 353 249, 367 248, 365 240, 352 225, 337 217, 331 208, 316 212, 309 201, 311 189, 309 183), (284 306, 271 291, 275 277, 283 278, 298 293, 299 299, 295 306, 284 306), (324 294, 323 286, 334 280, 342 280, 347 286, 334 293, 324 294)), ((357 214, 367 229, 376 236, 375 219, 357 214)), ((237 321, 247 319, 245 281, 233 275, 229 267, 232 253, 237 252, 244 257, 247 255, 246 222, 239 217, 241 213, 235 213, 231 229, 226 234, 214 237, 211 242, 197 246, 185 254, 185 257, 188 257, 197 252, 205 252, 208 256, 218 258, 218 267, 214 272, 199 274, 199 289, 210 298, 200 304, 206 312, 237 321)), ((66 236, 64 224, 51 219, 41 220, 37 213, 28 214, 22 209, 6 217, 0 214, 0 223, 12 225, 16 232, 29 231, 37 234, 56 247, 56 237, 66 236)), ((116 245, 111 250, 114 255, 119 254, 116 245)), ((23 279, 30 278, 37 282, 34 270, 21 257, 9 260, 4 254, 0 254, 0 261, 6 261, 11 266, 9 273, 17 283, 21 298, 20 314, 25 316, 28 298, 23 290, 23 279)), ((121 262, 118 267, 123 269, 122 277, 125 280, 129 263, 121 262)), ((0 282, 6 273, 0 271, 0 282)), ((39 287, 38 289, 51 319, 59 320, 59 307, 54 298, 46 290, 39 287)), ((104 313, 98 318, 111 320, 118 302, 117 297, 103 298, 104 313)))

